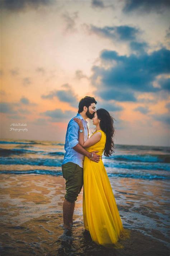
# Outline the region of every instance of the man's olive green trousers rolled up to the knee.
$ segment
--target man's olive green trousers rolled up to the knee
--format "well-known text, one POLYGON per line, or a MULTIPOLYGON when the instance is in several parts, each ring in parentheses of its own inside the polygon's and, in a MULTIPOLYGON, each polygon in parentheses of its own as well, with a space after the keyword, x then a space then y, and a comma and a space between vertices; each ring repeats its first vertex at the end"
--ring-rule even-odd
POLYGON ((70 203, 77 200, 83 185, 83 168, 78 164, 68 162, 62 166, 62 175, 66 180, 65 198, 70 203))

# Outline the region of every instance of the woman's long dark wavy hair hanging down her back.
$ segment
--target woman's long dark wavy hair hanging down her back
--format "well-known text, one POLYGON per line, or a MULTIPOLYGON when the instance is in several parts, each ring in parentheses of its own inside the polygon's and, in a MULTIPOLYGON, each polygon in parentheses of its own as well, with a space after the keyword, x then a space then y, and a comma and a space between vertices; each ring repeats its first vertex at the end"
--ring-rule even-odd
POLYGON ((104 148, 104 155, 109 156, 114 152, 114 126, 113 123, 115 120, 112 116, 110 116, 109 112, 105 109, 97 109, 96 110, 98 119, 100 119, 100 128, 106 134, 106 144, 104 148))

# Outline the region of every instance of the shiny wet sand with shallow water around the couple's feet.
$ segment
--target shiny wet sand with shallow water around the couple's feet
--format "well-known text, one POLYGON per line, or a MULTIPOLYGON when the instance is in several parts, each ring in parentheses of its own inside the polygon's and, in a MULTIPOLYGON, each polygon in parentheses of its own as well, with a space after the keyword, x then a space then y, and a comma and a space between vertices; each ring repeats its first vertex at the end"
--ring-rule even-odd
POLYGON ((63 233, 61 176, 1 174, 0 255, 169 255, 168 182, 110 178, 129 238, 114 249, 97 246, 84 232, 82 191, 69 240, 63 233))

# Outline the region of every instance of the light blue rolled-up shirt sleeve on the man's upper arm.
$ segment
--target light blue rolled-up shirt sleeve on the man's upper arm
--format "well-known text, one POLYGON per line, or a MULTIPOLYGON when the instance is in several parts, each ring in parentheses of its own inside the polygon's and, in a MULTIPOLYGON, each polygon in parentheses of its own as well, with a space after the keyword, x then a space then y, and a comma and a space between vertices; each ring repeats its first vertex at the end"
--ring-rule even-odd
POLYGON ((78 124, 76 125, 76 122, 73 120, 72 122, 70 122, 69 128, 68 128, 68 142, 71 149, 79 143, 78 132, 79 132, 79 125, 78 124))

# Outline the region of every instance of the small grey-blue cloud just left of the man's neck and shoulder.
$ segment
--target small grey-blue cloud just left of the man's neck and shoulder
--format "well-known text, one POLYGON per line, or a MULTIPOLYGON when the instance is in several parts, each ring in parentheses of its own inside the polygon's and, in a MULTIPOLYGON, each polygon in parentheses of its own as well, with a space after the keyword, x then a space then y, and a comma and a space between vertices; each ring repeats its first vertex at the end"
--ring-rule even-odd
POLYGON ((71 110, 67 110, 64 112, 61 109, 55 109, 55 110, 47 110, 41 113, 41 115, 50 117, 51 122, 63 122, 63 120, 71 119, 73 116, 76 115, 76 113, 71 110))

